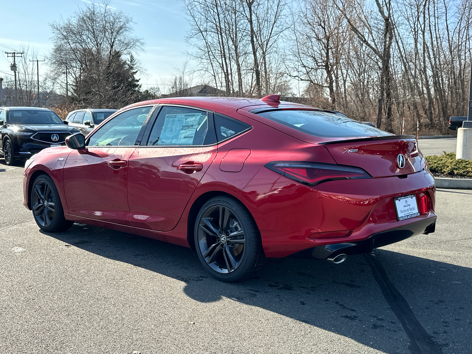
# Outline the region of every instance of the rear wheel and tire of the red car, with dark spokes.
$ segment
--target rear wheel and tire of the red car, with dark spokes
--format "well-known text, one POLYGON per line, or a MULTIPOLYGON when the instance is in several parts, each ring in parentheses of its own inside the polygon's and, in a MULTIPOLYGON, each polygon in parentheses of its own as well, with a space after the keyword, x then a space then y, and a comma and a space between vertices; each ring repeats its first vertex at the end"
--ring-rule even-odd
POLYGON ((253 278, 266 261, 253 217, 241 202, 227 196, 203 204, 195 221, 194 241, 205 270, 222 281, 253 278))

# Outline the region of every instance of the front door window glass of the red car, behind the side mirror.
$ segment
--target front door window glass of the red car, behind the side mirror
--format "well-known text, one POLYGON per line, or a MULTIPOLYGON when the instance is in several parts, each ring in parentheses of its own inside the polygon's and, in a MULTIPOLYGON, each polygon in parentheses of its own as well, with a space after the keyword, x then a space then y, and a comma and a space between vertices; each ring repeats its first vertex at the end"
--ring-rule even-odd
POLYGON ((152 106, 127 110, 101 126, 87 146, 132 146, 152 106))

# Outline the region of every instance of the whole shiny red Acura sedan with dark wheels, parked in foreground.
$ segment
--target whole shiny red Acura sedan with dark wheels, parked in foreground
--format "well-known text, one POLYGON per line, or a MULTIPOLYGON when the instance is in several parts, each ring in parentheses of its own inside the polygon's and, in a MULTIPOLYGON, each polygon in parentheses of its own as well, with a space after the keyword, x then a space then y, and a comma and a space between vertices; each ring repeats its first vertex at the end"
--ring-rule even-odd
POLYGON ((434 232, 434 178, 412 135, 310 106, 190 97, 133 104, 26 162, 25 207, 194 247, 215 278, 266 257, 329 259, 434 232))

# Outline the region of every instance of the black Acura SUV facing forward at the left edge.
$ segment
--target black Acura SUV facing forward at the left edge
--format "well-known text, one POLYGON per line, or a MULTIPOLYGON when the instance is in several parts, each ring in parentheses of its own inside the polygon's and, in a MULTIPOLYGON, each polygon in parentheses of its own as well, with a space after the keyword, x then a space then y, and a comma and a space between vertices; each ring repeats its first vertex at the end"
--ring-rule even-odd
POLYGON ((42 149, 65 145, 67 135, 79 133, 52 110, 0 107, 0 156, 7 165, 25 160, 42 149))

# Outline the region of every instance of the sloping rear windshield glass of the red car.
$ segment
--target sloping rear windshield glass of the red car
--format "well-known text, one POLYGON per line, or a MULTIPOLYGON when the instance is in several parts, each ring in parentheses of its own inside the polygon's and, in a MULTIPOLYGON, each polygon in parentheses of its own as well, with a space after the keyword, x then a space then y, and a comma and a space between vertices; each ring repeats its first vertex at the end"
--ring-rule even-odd
POLYGON ((391 135, 357 120, 321 110, 272 110, 258 114, 303 133, 320 137, 391 135))

